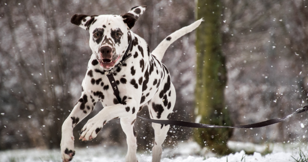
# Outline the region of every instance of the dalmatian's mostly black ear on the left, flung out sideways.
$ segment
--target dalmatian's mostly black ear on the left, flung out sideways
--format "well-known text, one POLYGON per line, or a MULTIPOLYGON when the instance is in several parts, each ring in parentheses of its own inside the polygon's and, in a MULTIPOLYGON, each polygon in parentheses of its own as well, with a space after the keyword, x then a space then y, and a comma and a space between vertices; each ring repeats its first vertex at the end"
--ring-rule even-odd
POLYGON ((78 25, 86 30, 89 30, 90 25, 95 20, 95 16, 98 15, 85 15, 85 14, 74 14, 71 18, 71 23, 78 25))

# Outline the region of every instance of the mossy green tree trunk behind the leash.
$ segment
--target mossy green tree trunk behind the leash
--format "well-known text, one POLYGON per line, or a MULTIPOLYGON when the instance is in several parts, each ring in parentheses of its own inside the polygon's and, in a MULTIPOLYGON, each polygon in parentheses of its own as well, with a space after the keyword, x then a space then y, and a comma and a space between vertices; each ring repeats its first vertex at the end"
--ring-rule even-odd
MULTIPOLYGON (((196 117, 200 123, 231 125, 224 104, 226 85, 225 58, 221 50, 221 1, 198 1, 197 19, 204 22, 197 28, 196 50, 196 117)), ((218 154, 228 154, 226 142, 232 129, 196 129, 195 140, 218 154), (214 149, 214 150, 213 150, 214 149)))

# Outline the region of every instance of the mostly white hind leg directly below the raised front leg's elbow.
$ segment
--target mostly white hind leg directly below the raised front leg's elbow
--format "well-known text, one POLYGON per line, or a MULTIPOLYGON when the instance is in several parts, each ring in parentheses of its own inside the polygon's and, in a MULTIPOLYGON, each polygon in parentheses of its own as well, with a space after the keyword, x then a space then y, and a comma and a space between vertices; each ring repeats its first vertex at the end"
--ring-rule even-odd
POLYGON ((136 152, 137 152, 137 133, 134 131, 135 119, 132 118, 121 118, 121 127, 123 132, 126 134, 127 141, 127 154, 125 156, 126 162, 136 162, 136 152))

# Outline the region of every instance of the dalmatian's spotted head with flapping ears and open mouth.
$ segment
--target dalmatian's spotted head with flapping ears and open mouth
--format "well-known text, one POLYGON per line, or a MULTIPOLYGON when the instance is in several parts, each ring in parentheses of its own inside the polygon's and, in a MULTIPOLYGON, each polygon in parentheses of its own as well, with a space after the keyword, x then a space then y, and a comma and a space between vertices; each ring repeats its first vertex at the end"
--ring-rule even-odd
POLYGON ((145 9, 146 6, 136 6, 123 15, 74 14, 71 23, 89 30, 90 48, 100 66, 109 70, 121 61, 128 48, 128 32, 145 9))

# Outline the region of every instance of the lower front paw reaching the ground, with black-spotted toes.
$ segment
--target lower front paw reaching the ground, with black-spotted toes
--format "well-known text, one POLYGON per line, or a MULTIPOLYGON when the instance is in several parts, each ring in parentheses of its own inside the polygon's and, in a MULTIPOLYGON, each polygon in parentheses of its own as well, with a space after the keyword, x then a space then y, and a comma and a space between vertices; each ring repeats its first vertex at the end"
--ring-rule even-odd
POLYGON ((74 136, 63 138, 61 140, 61 156, 63 162, 68 162, 73 159, 74 151, 74 136))

